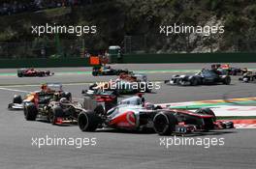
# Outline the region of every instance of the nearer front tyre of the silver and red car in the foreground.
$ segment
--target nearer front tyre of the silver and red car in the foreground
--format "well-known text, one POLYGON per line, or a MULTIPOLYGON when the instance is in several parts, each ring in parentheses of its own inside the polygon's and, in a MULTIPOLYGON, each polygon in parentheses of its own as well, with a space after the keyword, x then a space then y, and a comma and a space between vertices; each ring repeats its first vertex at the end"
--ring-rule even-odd
POLYGON ((159 135, 171 135, 176 130, 176 117, 167 112, 160 112, 153 118, 154 130, 159 135))

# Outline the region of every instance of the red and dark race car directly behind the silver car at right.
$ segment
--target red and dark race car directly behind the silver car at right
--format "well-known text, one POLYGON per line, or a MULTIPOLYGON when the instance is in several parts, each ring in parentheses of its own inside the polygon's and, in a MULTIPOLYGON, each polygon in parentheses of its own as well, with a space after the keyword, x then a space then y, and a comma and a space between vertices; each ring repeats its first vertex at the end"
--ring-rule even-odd
POLYGON ((244 69, 233 68, 233 67, 230 67, 229 64, 225 64, 225 65, 214 64, 214 65, 211 65, 211 69, 218 70, 222 74, 229 74, 229 75, 242 75, 243 73, 248 71, 247 68, 244 68, 244 69))

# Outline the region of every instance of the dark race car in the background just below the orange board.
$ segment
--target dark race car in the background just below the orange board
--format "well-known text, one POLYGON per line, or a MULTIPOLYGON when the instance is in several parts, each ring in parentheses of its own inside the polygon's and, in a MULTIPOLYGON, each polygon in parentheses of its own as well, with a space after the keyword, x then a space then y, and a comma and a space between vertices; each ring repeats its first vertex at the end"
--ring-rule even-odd
POLYGON ((132 73, 129 70, 114 70, 110 66, 94 66, 92 68, 92 75, 119 75, 120 73, 132 73))

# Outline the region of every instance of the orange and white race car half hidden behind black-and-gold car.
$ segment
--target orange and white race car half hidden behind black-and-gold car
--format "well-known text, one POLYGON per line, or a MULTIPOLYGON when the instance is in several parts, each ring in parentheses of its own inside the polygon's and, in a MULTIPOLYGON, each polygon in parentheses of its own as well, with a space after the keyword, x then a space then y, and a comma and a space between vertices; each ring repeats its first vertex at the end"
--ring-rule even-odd
POLYGON ((8 105, 10 110, 19 110, 24 108, 25 103, 44 103, 48 104, 51 99, 58 100, 63 97, 72 99, 71 93, 64 92, 62 85, 59 83, 47 83, 41 86, 40 91, 27 94, 23 99, 15 95, 13 102, 8 105))

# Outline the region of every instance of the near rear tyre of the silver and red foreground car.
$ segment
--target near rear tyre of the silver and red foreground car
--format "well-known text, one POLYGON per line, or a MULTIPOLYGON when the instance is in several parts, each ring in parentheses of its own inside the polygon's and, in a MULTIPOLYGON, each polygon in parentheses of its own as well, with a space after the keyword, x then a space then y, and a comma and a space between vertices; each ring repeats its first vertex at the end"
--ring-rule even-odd
POLYGON ((100 124, 100 117, 94 112, 80 112, 78 124, 82 131, 95 131, 100 124))

